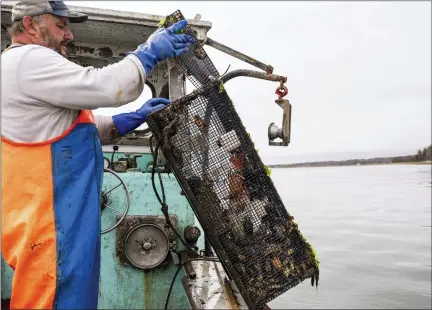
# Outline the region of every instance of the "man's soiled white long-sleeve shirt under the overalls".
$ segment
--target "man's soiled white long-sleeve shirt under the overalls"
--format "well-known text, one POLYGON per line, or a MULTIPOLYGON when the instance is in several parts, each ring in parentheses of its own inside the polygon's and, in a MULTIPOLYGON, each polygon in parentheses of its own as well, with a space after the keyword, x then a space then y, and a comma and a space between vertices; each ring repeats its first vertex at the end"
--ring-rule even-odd
MULTIPOLYGON (((133 55, 101 69, 79 66, 39 45, 1 56, 1 133, 15 142, 41 142, 65 132, 80 110, 120 107, 142 93, 146 74, 133 55)), ((95 115, 101 140, 109 141, 111 116, 95 115)))

